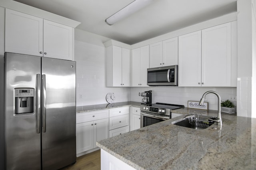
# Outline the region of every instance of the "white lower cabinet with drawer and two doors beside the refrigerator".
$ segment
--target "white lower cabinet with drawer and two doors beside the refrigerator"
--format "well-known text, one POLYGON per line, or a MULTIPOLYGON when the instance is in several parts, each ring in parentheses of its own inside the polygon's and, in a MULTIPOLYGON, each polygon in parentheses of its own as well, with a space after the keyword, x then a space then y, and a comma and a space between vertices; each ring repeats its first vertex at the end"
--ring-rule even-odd
POLYGON ((78 113, 76 123, 76 154, 94 149, 96 141, 109 138, 108 110, 78 113))

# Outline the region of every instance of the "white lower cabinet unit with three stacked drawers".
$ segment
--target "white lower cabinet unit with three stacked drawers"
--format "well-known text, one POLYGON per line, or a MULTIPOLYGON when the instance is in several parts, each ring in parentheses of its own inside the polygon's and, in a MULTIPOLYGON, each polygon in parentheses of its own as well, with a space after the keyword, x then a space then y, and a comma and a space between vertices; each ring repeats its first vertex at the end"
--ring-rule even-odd
POLYGON ((129 107, 109 110, 109 137, 129 132, 129 107))

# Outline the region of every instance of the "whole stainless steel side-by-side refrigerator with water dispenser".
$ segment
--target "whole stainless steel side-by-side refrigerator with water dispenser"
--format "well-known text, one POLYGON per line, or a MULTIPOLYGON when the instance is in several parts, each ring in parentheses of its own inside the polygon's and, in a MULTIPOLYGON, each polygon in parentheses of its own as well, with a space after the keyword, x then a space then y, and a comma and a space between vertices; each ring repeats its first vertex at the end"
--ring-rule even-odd
POLYGON ((7 170, 76 162, 76 63, 5 53, 7 170))

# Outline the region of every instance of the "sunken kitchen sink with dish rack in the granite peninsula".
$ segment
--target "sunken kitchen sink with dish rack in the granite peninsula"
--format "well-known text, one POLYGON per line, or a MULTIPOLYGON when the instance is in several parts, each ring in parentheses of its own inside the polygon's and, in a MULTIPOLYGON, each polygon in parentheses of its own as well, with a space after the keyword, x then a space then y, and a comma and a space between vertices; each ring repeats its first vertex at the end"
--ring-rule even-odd
POLYGON ((187 115, 185 118, 174 121, 172 124, 192 129, 206 129, 211 126, 215 121, 216 117, 208 117, 202 115, 187 115))

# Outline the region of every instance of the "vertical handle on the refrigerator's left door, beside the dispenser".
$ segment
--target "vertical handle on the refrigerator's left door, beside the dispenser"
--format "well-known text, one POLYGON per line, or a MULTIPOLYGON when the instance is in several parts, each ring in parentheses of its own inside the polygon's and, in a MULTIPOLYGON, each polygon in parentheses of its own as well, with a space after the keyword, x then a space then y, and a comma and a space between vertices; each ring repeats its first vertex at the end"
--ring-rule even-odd
POLYGON ((41 81, 40 74, 36 74, 36 133, 40 133, 40 122, 41 122, 41 104, 40 104, 40 90, 41 81))

